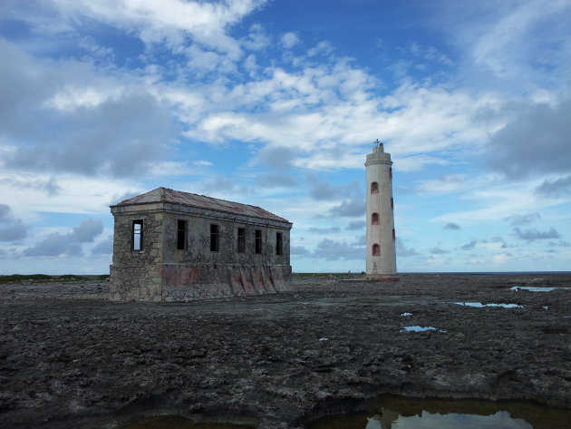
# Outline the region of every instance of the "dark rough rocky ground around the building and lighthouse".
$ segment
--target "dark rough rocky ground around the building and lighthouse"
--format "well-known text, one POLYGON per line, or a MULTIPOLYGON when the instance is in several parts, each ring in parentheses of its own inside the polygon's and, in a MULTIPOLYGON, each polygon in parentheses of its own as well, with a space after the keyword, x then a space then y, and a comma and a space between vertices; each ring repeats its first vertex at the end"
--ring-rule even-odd
POLYGON ((279 296, 189 304, 111 303, 98 281, 0 285, 0 427, 159 414, 305 427, 383 393, 571 409, 569 275, 294 282, 279 296))

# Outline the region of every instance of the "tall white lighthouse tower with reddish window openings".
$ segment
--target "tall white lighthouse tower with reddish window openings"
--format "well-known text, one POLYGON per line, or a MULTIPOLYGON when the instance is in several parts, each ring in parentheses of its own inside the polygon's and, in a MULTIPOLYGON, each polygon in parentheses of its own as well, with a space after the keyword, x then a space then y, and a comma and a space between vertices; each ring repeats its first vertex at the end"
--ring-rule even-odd
POLYGON ((367 279, 397 281, 391 154, 375 141, 367 155, 367 279))

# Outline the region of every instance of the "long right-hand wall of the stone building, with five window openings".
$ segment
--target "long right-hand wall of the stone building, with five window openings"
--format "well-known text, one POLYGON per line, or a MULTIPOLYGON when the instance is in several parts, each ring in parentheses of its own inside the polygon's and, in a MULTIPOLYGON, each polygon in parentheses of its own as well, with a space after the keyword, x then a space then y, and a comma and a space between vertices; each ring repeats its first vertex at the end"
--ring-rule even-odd
MULTIPOLYGON (((170 208, 172 209, 172 208, 170 208)), ((276 293, 289 288, 289 229, 276 222, 229 213, 184 211, 165 213, 165 245, 161 276, 163 299, 189 301, 276 293), (207 217, 208 216, 208 217, 207 217), (177 223, 186 220, 187 249, 177 249, 177 223), (210 251, 210 225, 219 227, 219 250, 210 251), (237 251, 238 228, 246 230, 244 253, 237 251), (262 253, 256 254, 256 229, 262 233, 262 253), (276 233, 283 235, 283 254, 276 255, 276 233)))

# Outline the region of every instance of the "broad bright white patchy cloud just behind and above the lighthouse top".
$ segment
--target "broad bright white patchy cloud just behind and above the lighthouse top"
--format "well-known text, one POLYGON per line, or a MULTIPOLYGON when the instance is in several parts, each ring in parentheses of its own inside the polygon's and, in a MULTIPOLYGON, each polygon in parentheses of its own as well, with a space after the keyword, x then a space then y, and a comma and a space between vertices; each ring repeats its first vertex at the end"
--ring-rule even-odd
MULTIPOLYGON (((393 157, 402 159, 395 168, 412 171, 428 163, 449 162, 428 153, 462 146, 478 151, 489 132, 505 123, 497 117, 473 122, 480 109, 498 104, 491 94, 474 99, 468 93, 406 84, 374 98, 369 93, 374 84, 373 76, 344 62, 306 67, 298 73, 276 68, 262 80, 218 87, 224 96, 210 104, 198 121, 192 118, 196 126, 187 135, 213 143, 237 139, 296 148, 305 152, 296 165, 323 170, 360 167, 359 147, 381 130, 393 157), (255 112, 245 111, 251 106, 256 106, 255 112), (324 152, 332 142, 343 145, 343 157, 324 152)), ((202 91, 194 98, 210 98, 208 88, 202 91)), ((196 112, 193 105, 190 109, 196 112)))

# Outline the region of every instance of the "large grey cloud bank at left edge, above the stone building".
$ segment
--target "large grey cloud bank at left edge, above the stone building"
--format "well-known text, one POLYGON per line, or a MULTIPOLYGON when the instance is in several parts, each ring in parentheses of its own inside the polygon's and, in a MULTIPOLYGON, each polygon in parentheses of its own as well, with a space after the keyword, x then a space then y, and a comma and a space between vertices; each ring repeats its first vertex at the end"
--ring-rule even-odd
POLYGON ((35 58, 0 39, 5 171, 140 174, 164 157, 179 123, 138 76, 89 61, 35 58))

